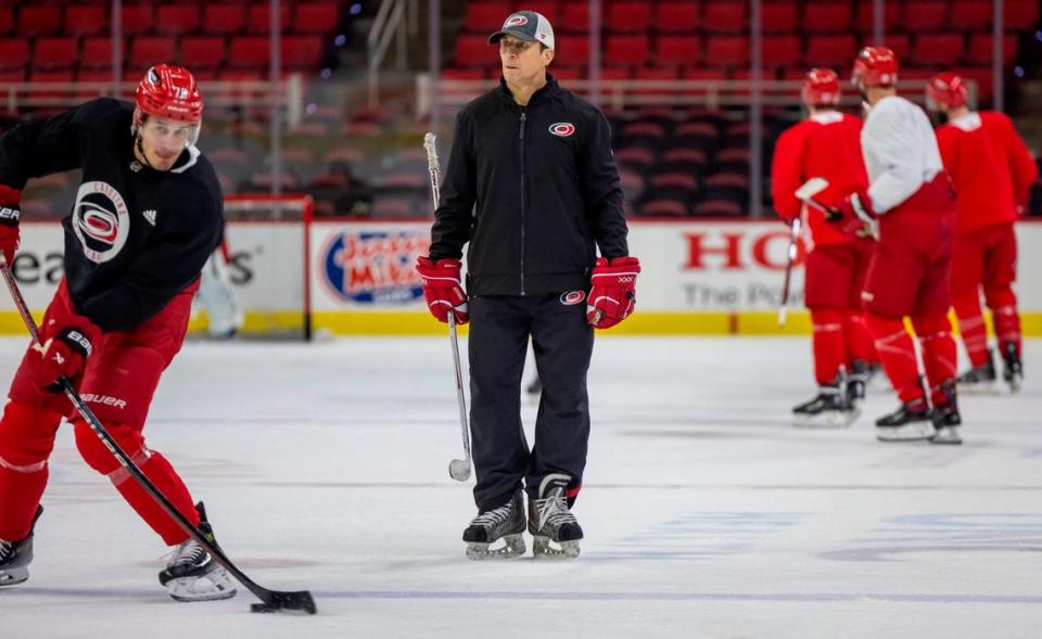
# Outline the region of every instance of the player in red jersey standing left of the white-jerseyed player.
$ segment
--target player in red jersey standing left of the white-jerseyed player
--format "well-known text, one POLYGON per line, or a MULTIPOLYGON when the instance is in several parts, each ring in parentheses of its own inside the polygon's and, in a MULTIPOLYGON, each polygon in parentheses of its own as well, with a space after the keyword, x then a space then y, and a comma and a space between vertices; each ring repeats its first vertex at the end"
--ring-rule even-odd
POLYGON ((778 138, 771 167, 774 208, 789 223, 802 217, 811 231, 805 304, 814 325, 814 376, 818 395, 792 409, 798 425, 844 426, 859 413, 868 363, 875 359, 861 309, 872 257, 871 237, 842 233, 822 210, 804 206, 796 190, 819 177, 828 188, 815 200, 831 205, 868 186, 861 156, 861 118, 841 113, 836 73, 811 69, 803 81, 808 117, 778 138))

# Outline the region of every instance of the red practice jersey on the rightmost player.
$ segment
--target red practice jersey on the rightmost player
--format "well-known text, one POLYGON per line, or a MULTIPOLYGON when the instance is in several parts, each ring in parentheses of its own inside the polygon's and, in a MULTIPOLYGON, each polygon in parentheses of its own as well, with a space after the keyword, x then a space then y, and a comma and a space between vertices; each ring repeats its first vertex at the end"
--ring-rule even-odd
POLYGON ((955 184, 961 232, 1017 218, 1038 167, 1008 117, 967 113, 938 128, 937 143, 955 184))

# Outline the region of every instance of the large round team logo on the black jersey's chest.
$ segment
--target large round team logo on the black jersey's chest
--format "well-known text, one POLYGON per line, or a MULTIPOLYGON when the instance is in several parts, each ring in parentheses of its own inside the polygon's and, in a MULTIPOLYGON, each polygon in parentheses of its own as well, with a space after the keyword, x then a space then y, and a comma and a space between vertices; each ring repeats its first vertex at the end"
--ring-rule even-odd
POLYGON ((84 182, 73 207, 73 231, 87 259, 102 264, 119 254, 130 233, 127 203, 112 186, 84 182))

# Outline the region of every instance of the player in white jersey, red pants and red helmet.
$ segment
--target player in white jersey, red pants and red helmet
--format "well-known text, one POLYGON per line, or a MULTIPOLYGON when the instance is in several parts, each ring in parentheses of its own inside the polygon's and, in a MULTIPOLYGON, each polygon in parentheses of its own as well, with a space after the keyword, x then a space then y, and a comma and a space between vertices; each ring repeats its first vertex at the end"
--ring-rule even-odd
POLYGON ((960 444, 956 348, 948 319, 955 193, 929 118, 897 94, 893 51, 864 48, 852 80, 868 108, 861 148, 869 186, 846 197, 830 219, 848 232, 878 222, 862 301, 879 359, 902 405, 876 420, 876 437, 960 444), (928 389, 904 317, 912 319, 923 348, 928 389))

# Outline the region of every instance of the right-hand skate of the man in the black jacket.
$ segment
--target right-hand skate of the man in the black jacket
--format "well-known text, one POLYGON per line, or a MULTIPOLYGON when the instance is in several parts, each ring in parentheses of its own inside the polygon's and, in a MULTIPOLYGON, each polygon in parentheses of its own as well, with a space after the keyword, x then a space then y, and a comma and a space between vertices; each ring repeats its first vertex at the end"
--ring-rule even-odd
POLYGON ((568 508, 566 494, 570 481, 571 477, 563 474, 547 475, 539 484, 539 497, 529 498, 529 533, 533 536, 532 552, 536 557, 579 557, 583 528, 568 508))

